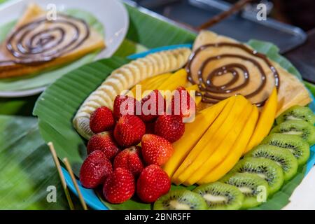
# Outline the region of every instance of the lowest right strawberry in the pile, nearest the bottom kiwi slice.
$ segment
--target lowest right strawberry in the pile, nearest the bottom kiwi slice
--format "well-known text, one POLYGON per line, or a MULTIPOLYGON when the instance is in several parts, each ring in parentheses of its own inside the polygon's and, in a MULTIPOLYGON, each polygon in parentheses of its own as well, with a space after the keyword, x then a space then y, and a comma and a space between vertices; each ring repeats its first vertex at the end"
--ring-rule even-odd
POLYGON ((150 165, 141 172, 137 181, 137 195, 143 202, 152 203, 169 192, 171 180, 157 165, 150 165))

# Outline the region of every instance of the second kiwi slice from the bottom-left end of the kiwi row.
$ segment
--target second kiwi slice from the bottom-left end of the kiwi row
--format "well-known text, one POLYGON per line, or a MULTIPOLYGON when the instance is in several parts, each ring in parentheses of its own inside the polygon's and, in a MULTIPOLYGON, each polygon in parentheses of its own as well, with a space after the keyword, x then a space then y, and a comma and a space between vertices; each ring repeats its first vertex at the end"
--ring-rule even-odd
POLYGON ((239 189, 220 182, 204 184, 193 192, 204 198, 209 210, 238 210, 244 201, 244 195, 239 189))

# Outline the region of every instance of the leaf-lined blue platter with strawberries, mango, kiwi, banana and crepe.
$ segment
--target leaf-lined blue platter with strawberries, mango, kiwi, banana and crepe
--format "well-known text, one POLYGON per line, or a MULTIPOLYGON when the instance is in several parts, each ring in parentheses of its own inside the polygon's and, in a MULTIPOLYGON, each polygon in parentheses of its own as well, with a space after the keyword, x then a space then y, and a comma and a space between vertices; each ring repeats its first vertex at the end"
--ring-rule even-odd
POLYGON ((271 43, 201 31, 67 73, 34 115, 93 209, 282 209, 315 162, 313 99, 271 43))

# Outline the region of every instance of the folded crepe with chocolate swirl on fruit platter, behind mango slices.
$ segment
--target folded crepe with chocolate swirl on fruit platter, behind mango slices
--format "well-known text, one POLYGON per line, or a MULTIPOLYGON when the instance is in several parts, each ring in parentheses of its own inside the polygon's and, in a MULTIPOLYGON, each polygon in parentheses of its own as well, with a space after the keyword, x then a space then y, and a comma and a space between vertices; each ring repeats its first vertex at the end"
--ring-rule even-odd
MULTIPOLYGON (((255 92, 258 90, 262 84, 262 71, 265 73, 265 86, 256 94, 248 97, 248 99, 253 103, 264 102, 265 99, 269 97, 274 86, 276 85, 276 78, 274 72, 272 71, 272 66, 276 69, 279 75, 279 90, 278 99, 279 115, 286 109, 294 105, 305 106, 311 102, 309 92, 300 82, 298 78, 288 73, 279 64, 268 60, 271 64, 267 64, 264 59, 257 57, 255 50, 251 49, 250 46, 246 45, 251 52, 246 52, 242 48, 234 47, 233 45, 220 45, 218 43, 238 43, 232 38, 225 36, 219 36, 211 31, 201 31, 199 36, 197 36, 195 43, 193 45, 193 50, 197 50, 203 45, 214 44, 209 48, 204 48, 200 50, 195 55, 195 58, 190 64, 191 77, 195 83, 202 83, 199 79, 199 73, 202 71, 202 78, 204 82, 207 82, 210 73, 216 73, 216 76, 212 76, 209 82, 211 83, 213 92, 209 92, 211 97, 214 98, 225 98, 234 94, 243 94, 244 96, 255 92), (217 45, 216 45, 217 44, 217 45), (254 52, 254 53, 252 53, 254 52), (223 57, 223 55, 228 55, 223 57), (235 57, 235 55, 237 57, 235 57), (240 56, 240 57, 239 57, 240 56), (207 59, 212 58, 207 62, 207 59), (204 63, 207 62, 207 63, 204 63), (260 68, 257 65, 260 64, 260 68), (204 65, 204 68, 202 68, 204 65), (228 70, 228 71, 227 71, 228 70), (220 73, 221 71, 221 73, 220 73), (222 72, 225 71, 225 72, 222 72), (234 74, 233 74, 234 73, 234 74), (236 75, 238 73, 238 76, 236 75), (243 85, 246 81, 244 78, 248 73, 248 83, 243 85), (231 85, 232 83, 232 85, 231 85), (225 87, 224 87, 225 86, 225 87), (239 89, 237 87, 241 86, 239 89), (225 89, 235 89, 232 92, 221 92, 217 90, 225 89), (220 89, 221 88, 221 89, 220 89), (236 90, 237 89, 237 90, 236 90)), ((204 85, 205 86, 205 85, 204 85)), ((209 104, 208 104, 209 105, 209 104)))

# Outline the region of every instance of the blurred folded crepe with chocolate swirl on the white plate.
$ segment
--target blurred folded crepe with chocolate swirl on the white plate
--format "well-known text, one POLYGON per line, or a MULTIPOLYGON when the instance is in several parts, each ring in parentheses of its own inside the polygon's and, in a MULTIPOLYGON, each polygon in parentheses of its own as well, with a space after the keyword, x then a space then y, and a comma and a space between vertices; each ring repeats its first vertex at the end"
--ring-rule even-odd
POLYGON ((48 13, 30 4, 13 31, 0 43, 0 78, 24 76, 72 62, 105 46, 85 21, 48 13))

